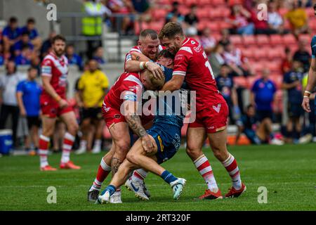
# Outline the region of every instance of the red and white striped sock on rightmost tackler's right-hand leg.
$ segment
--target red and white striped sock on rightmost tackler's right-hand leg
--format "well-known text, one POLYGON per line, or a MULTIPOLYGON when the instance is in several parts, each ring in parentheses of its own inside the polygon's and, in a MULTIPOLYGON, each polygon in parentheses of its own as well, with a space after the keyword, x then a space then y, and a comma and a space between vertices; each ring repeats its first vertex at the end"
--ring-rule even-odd
POLYGON ((228 156, 228 159, 223 161, 222 164, 227 172, 230 174, 230 177, 232 179, 232 186, 236 190, 242 188, 242 179, 240 179, 239 168, 234 156, 230 154, 228 156))

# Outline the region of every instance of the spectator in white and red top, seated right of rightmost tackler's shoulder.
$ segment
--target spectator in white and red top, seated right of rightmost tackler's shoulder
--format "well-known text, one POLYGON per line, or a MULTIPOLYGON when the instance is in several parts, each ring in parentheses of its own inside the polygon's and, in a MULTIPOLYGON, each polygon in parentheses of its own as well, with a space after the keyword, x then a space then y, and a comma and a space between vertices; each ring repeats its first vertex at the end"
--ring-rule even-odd
POLYGON ((223 56, 225 63, 227 63, 230 68, 232 68, 235 76, 254 75, 248 59, 242 56, 242 51, 235 48, 234 44, 226 44, 223 56))

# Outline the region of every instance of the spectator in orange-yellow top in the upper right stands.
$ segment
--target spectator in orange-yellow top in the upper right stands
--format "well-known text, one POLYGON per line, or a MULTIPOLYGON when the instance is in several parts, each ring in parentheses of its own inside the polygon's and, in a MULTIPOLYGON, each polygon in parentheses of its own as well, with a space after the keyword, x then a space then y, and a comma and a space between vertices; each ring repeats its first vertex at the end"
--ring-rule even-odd
POLYGON ((291 9, 284 15, 289 20, 292 32, 298 37, 298 34, 309 33, 308 16, 305 9, 301 7, 301 1, 294 0, 291 9))

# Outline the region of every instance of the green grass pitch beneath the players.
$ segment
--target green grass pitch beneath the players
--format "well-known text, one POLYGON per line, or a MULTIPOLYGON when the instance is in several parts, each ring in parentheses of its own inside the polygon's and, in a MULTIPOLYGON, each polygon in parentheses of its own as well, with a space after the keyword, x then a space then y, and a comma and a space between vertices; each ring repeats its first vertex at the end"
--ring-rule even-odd
MULTIPOLYGON (((164 167, 176 176, 187 179, 180 200, 172 199, 171 188, 159 176, 146 179, 152 198, 136 199, 122 187, 123 204, 93 205, 86 192, 96 176, 100 155, 72 155, 82 166, 79 171, 40 172, 39 158, 16 156, 0 158, 0 210, 316 210, 316 144, 302 146, 230 146, 235 155, 247 191, 240 198, 194 200, 204 193, 206 184, 185 150, 164 167), (57 189, 57 203, 46 201, 48 186, 57 189), (268 189, 268 203, 258 203, 258 187, 268 189)), ((230 177, 213 157, 209 148, 204 153, 211 162, 218 186, 224 195, 230 188, 230 177)), ((49 162, 57 167, 60 154, 49 162)), ((110 181, 108 177, 104 184, 110 181)))

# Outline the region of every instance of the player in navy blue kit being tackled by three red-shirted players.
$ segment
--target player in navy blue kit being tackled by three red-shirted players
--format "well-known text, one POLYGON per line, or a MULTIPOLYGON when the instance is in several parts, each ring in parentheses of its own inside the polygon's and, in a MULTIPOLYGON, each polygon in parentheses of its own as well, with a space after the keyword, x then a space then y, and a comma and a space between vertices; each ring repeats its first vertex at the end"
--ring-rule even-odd
MULTIPOLYGON (((170 54, 168 51, 162 51, 161 57, 158 58, 157 62, 162 65, 170 66, 170 54)), ((168 81, 172 77, 172 70, 164 68, 165 80, 168 81)), ((175 92, 174 92, 175 93, 175 92)), ((164 169, 160 164, 166 160, 169 160, 176 154, 180 147, 181 141, 181 127, 183 126, 183 119, 185 118, 186 110, 180 115, 176 114, 176 102, 180 102, 182 92, 176 93, 178 95, 178 101, 168 101, 165 96, 159 96, 157 99, 157 112, 154 117, 154 123, 152 128, 147 130, 150 135, 150 139, 154 140, 154 150, 148 151, 143 148, 140 140, 131 147, 129 153, 126 155, 126 159, 119 167, 117 173, 112 178, 110 185, 105 188, 103 193, 98 197, 96 203, 110 203, 110 196, 113 195, 114 191, 124 184, 128 178, 129 172, 133 169, 144 168, 147 171, 153 172, 158 176, 161 176, 166 183, 170 184, 173 190, 173 199, 178 200, 185 186, 185 179, 177 178, 170 172, 164 169), (170 105, 173 103, 173 105, 170 105), (164 114, 159 112, 161 105, 164 105, 164 114), (168 112, 172 109, 172 112, 168 112)), ((143 200, 148 200, 145 193, 139 196, 143 200)))

